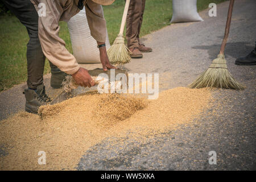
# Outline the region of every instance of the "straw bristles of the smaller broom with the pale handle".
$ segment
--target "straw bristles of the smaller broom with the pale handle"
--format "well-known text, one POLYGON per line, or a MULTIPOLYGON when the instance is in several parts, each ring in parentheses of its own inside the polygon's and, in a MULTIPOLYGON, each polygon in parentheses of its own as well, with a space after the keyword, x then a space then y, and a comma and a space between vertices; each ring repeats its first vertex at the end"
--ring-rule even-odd
POLYGON ((118 35, 107 52, 109 61, 112 64, 125 64, 131 60, 131 51, 125 46, 125 38, 123 36, 118 35))

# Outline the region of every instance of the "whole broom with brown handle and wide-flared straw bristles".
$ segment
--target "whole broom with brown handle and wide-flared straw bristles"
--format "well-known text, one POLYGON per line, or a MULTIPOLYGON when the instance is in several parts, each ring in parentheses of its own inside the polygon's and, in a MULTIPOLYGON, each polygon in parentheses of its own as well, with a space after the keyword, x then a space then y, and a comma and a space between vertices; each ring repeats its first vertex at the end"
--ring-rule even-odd
POLYGON ((225 35, 221 44, 220 54, 212 61, 212 64, 210 64, 207 71, 203 72, 196 81, 189 85, 190 88, 216 87, 221 89, 245 89, 245 86, 240 85, 229 73, 224 56, 224 49, 229 35, 233 6, 234 0, 230 0, 225 35))

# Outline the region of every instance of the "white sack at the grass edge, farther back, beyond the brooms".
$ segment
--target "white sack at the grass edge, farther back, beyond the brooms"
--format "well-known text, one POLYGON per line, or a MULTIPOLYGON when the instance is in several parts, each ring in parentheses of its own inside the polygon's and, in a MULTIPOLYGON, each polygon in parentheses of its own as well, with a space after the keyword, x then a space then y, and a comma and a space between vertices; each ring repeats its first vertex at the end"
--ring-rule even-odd
POLYGON ((203 21, 197 13, 196 1, 197 0, 172 0, 171 23, 203 21))

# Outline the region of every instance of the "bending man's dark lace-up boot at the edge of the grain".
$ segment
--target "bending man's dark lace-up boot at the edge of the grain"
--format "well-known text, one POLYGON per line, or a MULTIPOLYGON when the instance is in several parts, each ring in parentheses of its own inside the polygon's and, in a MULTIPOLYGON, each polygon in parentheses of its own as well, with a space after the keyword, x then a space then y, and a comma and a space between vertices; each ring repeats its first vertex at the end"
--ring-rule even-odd
POLYGON ((36 91, 32 89, 25 89, 23 94, 26 98, 25 110, 28 113, 38 114, 38 109, 40 106, 49 104, 51 102, 51 98, 47 96, 43 84, 38 85, 36 91))

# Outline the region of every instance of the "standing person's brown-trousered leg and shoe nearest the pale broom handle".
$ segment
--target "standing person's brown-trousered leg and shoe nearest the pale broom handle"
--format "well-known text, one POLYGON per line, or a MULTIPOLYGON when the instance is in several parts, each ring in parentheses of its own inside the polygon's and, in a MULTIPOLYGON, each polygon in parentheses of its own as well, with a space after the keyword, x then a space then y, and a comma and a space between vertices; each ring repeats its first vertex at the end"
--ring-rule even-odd
POLYGON ((141 58, 143 55, 139 51, 138 27, 141 18, 142 0, 131 0, 126 19, 126 39, 127 47, 132 52, 131 57, 141 58))

